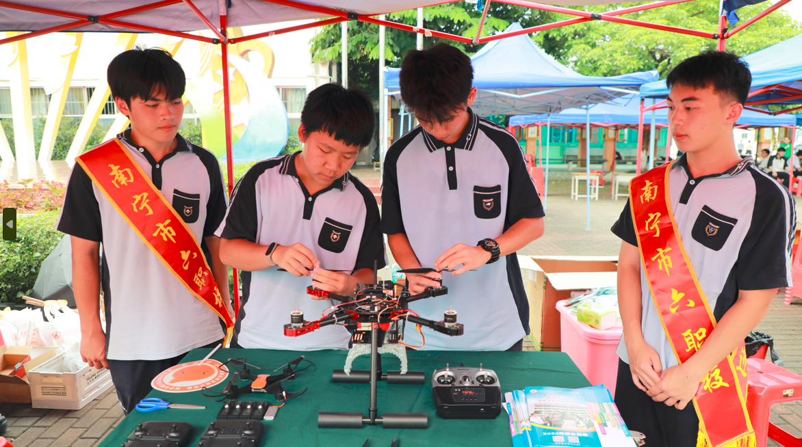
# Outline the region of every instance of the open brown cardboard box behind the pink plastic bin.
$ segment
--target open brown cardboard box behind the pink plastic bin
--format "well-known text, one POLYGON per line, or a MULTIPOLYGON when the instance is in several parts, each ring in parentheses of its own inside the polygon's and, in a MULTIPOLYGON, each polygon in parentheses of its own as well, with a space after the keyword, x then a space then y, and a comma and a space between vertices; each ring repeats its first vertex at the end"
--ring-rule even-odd
POLYGON ((530 336, 542 351, 560 350, 557 301, 568 300, 573 291, 615 286, 618 280, 618 256, 533 256, 531 264, 519 262, 529 299, 530 336))

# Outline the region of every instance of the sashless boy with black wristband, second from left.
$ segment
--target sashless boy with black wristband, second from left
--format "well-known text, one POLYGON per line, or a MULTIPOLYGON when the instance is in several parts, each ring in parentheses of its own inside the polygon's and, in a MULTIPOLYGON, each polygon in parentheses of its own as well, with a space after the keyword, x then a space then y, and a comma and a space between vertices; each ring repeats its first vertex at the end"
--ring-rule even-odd
POLYGON ((217 231, 221 259, 243 271, 233 347, 348 348, 342 325, 294 338, 284 336, 284 324, 296 309, 317 320, 332 305, 307 295, 310 284, 353 295, 357 284, 373 281, 375 261, 379 268, 387 265, 379 207, 348 173, 359 149, 371 142, 374 122, 367 95, 338 84, 318 87, 301 112, 304 150, 255 164, 237 184, 217 231))

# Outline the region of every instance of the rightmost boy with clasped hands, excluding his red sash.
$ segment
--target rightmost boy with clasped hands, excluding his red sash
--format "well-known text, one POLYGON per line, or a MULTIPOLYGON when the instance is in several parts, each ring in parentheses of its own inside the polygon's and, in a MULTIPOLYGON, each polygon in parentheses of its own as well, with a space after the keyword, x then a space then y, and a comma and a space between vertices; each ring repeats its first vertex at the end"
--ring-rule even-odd
POLYGON ((627 427, 646 434, 649 445, 696 445, 699 418, 691 399, 699 382, 766 315, 777 288, 791 285, 796 208, 788 189, 735 149, 732 128, 751 85, 743 61, 708 51, 681 62, 666 83, 671 135, 685 152, 670 167, 670 208, 718 324, 678 365, 643 272, 627 201, 612 228, 622 239, 624 328, 615 402, 627 427))

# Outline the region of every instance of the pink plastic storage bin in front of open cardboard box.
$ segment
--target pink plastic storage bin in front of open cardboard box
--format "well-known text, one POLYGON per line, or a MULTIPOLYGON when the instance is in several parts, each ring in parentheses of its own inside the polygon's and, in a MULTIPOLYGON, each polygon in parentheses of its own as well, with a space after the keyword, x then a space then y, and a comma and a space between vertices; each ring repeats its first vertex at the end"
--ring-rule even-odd
POLYGON ((600 330, 577 321, 569 308, 568 300, 557 301, 560 312, 561 350, 568 354, 580 371, 590 381, 590 385, 605 385, 615 396, 615 378, 618 374, 618 340, 623 332, 622 326, 600 330))

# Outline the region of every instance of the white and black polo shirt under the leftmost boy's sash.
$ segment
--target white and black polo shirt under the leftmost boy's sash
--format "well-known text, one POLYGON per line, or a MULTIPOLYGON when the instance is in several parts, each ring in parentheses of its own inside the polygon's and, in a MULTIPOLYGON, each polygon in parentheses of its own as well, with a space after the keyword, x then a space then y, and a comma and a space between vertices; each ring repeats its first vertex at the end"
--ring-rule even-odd
MULTIPOLYGON (((157 163, 132 142, 130 129, 117 138, 207 252, 203 238, 214 235, 226 207, 215 156, 176 135, 176 149, 157 163)), ((72 169, 56 228, 103 243, 108 359, 163 360, 225 336, 219 317, 164 267, 80 164, 72 169)))

